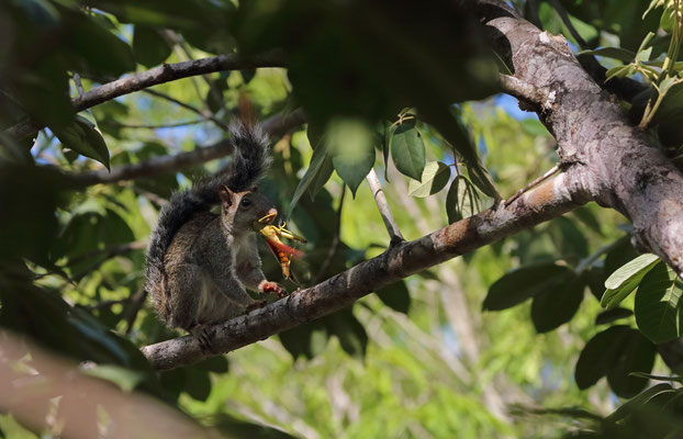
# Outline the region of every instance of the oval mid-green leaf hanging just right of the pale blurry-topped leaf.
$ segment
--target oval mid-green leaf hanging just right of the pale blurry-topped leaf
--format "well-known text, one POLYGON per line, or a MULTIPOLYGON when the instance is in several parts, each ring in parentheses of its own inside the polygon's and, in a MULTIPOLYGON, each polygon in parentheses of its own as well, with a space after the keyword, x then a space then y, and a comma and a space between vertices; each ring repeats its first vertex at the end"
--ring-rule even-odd
POLYGON ((415 127, 415 120, 405 121, 391 130, 389 147, 396 169, 419 180, 425 168, 425 143, 415 127))

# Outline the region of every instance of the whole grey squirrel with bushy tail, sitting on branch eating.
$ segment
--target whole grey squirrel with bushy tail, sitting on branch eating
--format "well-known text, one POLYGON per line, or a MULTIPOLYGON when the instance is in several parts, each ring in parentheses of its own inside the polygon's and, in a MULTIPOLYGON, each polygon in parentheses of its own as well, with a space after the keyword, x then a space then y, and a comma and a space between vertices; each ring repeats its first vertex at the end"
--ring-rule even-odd
POLYGON ((231 164, 192 189, 171 195, 159 212, 146 254, 146 285, 160 318, 211 350, 206 325, 264 306, 245 286, 284 296, 261 271, 255 224, 277 215, 256 183, 272 161, 268 136, 246 119, 233 121, 231 164), (220 204, 220 214, 211 212, 220 204))

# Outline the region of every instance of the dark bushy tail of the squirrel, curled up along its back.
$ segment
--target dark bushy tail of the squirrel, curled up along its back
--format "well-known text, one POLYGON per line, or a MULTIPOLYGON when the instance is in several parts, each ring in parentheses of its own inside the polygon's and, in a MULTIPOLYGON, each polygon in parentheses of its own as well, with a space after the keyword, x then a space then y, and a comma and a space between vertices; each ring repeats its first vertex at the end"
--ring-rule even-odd
POLYGON ((156 227, 147 245, 145 289, 155 293, 164 284, 164 258, 176 233, 192 216, 208 211, 220 202, 219 188, 227 185, 234 192, 249 190, 258 183, 270 166, 268 136, 262 127, 248 121, 236 120, 229 125, 234 151, 231 164, 215 176, 187 191, 175 193, 159 212, 156 227))

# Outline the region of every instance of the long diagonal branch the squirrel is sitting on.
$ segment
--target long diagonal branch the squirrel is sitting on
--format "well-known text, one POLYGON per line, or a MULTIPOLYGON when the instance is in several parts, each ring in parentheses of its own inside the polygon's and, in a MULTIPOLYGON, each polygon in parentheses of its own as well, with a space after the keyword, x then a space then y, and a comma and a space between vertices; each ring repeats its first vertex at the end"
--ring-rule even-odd
MULTIPOLYGON (((216 352, 228 352, 301 323, 325 316, 399 279, 472 251, 494 240, 533 227, 587 201, 570 192, 561 173, 514 203, 494 207, 451 224, 419 239, 392 246, 382 255, 333 278, 275 302, 248 315, 209 328, 216 352)), ((190 336, 142 348, 156 369, 172 369, 200 361, 202 352, 190 336)))

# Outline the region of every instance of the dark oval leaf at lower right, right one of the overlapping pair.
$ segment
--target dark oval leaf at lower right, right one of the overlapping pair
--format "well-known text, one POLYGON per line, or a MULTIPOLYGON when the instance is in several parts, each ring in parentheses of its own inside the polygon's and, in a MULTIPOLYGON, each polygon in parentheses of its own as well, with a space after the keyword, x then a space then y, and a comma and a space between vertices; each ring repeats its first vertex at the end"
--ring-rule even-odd
POLYGON ((634 397, 647 386, 647 379, 632 376, 630 373, 650 373, 656 353, 657 349, 650 340, 638 330, 629 329, 619 356, 607 371, 607 382, 617 396, 634 397))

